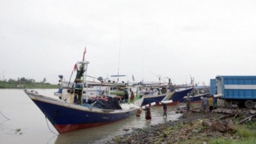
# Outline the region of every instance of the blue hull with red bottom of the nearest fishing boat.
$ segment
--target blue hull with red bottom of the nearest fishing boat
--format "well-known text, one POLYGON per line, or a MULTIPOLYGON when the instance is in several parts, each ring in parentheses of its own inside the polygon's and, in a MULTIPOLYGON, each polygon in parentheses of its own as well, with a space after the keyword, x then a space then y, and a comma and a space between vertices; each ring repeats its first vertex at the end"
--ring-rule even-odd
POLYGON ((25 92, 60 134, 113 123, 129 116, 135 116, 137 110, 136 107, 128 105, 128 109, 83 107, 25 92))

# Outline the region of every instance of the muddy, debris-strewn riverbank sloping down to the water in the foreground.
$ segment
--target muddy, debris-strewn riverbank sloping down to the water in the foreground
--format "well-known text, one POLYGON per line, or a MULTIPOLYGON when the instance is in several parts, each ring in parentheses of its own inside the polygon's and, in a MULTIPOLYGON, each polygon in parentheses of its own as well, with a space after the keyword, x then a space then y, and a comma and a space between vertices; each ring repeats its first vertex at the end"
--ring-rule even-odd
MULTIPOLYGON (((243 111, 240 111, 244 113, 243 111)), ((229 129, 228 132, 220 132, 212 127, 207 127, 203 123, 214 123, 215 121, 223 120, 223 117, 227 114, 221 114, 218 112, 212 112, 211 114, 202 114, 200 112, 190 112, 189 114, 183 114, 179 120, 166 121, 158 125, 150 125, 144 128, 133 128, 133 132, 125 135, 115 136, 111 141, 105 143, 209 143, 219 138, 227 138, 231 141, 242 141, 243 136, 239 136, 234 129, 229 129)), ((223 121, 232 122, 238 120, 238 113, 236 116, 228 116, 223 121)), ((234 122, 235 123, 235 122, 234 122)), ((254 122, 255 123, 255 122, 254 122)), ((232 127, 234 127, 232 125, 232 127)), ((224 127, 224 130, 226 128, 224 127)), ((256 127, 255 127, 256 129, 256 127)), ((255 136, 256 137, 256 136, 255 136)), ((255 141, 253 137, 253 141, 255 141)), ((218 142, 217 142, 218 143, 218 142)))

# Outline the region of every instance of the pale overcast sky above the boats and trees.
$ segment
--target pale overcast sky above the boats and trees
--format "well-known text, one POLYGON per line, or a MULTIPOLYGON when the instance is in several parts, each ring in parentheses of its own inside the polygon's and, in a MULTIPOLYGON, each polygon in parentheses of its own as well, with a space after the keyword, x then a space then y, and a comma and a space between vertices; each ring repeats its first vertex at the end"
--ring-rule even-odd
POLYGON ((88 75, 209 84, 256 75, 256 1, 0 0, 0 78, 88 75))

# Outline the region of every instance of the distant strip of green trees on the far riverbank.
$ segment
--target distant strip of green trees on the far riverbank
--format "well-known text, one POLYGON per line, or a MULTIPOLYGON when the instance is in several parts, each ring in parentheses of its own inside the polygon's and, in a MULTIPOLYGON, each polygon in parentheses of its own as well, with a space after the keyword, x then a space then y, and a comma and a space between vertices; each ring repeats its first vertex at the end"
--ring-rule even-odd
POLYGON ((8 81, 0 81, 0 89, 58 89, 58 84, 50 84, 46 82, 46 78, 42 82, 35 82, 34 79, 18 78, 17 80, 9 79, 8 81))

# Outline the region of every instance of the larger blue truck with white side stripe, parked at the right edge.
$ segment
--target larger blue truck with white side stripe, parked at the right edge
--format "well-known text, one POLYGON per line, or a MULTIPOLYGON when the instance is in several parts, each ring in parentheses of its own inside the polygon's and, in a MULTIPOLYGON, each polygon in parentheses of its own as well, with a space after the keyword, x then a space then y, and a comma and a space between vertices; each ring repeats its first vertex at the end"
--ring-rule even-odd
POLYGON ((248 109, 255 107, 256 76, 217 75, 216 81, 211 80, 210 87, 211 94, 225 100, 227 107, 232 107, 232 105, 248 109))

